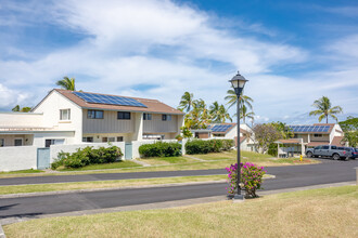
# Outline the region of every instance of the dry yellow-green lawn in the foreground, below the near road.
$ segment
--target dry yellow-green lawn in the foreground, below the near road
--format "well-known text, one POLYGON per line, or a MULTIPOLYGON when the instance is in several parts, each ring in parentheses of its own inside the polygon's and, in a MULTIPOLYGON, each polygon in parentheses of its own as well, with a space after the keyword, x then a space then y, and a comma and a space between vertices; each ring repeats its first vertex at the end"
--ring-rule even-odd
POLYGON ((358 237, 358 186, 182 208, 61 216, 3 226, 7 237, 358 237))

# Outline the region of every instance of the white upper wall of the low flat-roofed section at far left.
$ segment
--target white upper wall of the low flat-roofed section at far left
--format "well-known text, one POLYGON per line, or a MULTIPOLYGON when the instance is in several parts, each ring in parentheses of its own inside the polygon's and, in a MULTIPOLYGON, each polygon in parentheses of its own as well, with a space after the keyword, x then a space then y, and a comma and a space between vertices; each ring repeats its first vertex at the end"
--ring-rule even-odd
POLYGON ((41 128, 42 114, 0 113, 0 128, 41 128))

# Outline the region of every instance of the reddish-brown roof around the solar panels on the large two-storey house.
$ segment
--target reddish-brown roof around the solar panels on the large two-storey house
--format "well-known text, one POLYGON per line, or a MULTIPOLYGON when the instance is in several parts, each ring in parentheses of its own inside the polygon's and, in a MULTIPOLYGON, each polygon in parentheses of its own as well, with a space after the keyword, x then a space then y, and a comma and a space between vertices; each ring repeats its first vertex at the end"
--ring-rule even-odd
MULTIPOLYGON (((158 113, 158 114, 177 114, 184 115, 181 110, 175 109, 157 100, 148 100, 148 98, 139 98, 139 97, 129 97, 128 98, 137 100, 138 102, 144 104, 145 107, 135 107, 135 106, 120 106, 120 105, 110 105, 110 104, 97 104, 97 103, 87 103, 82 98, 73 94, 73 91, 54 89, 54 91, 61 93, 63 96, 67 97, 78 106, 88 109, 103 109, 103 110, 129 110, 129 111, 143 111, 143 113, 158 113)), ((85 92, 84 92, 85 93, 85 92)), ((93 93, 99 94, 99 93, 93 93)), ((108 94, 101 94, 108 95, 108 94)))

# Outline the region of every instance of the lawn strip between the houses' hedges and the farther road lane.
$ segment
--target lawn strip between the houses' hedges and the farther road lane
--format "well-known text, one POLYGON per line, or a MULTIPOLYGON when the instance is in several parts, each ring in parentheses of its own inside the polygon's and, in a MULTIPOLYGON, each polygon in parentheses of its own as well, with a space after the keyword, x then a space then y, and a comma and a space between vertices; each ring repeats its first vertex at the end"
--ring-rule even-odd
MULTIPOLYGON (((60 169, 57 173, 41 173, 41 174, 16 174, 16 173, 0 173, 0 177, 14 176, 36 176, 36 175, 75 175, 89 173, 123 173, 123 172, 149 172, 149 171, 179 171, 179 170, 208 170, 208 169, 225 169, 236 162, 236 151, 213 153, 207 155, 190 155, 191 157, 200 158, 205 161, 197 161, 190 157, 172 157, 172 158, 146 158, 138 159, 144 161, 151 167, 142 167, 130 160, 115 162, 108 164, 92 164, 80 169, 60 169), (106 171, 100 171, 111 169, 106 171), (98 170, 98 171, 95 171, 98 170)), ((292 166, 292 164, 310 164, 318 163, 316 160, 305 159, 301 162, 297 158, 274 159, 268 155, 261 155, 251 151, 242 151, 242 162, 253 162, 261 167, 292 166)))

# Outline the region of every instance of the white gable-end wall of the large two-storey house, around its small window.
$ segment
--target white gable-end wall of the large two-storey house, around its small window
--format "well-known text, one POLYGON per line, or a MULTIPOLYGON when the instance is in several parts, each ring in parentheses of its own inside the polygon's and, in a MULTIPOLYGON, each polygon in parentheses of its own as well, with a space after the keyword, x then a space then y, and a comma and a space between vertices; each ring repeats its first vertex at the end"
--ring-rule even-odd
POLYGON ((52 91, 34 110, 43 114, 43 127, 74 131, 72 143, 82 142, 82 109, 56 91, 52 91), (71 109, 71 120, 60 120, 60 109, 71 109))

